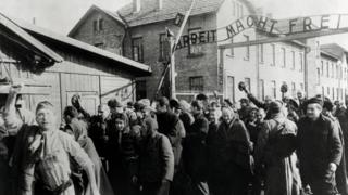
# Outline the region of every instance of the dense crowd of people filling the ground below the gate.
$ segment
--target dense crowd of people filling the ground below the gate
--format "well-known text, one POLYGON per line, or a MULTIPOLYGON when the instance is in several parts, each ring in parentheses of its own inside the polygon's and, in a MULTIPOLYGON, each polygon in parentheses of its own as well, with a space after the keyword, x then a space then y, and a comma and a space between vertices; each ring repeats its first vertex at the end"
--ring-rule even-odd
POLYGON ((78 95, 57 121, 10 89, 0 117, 1 195, 348 195, 348 110, 316 95, 236 106, 116 99, 90 116, 78 95), (238 107, 238 108, 237 108, 238 107))

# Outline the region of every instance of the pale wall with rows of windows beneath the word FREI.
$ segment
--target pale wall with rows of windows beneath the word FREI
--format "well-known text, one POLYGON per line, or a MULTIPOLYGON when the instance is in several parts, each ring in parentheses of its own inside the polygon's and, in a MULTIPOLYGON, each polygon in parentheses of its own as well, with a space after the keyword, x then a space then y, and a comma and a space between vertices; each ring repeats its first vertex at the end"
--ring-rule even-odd
POLYGON ((262 46, 258 47, 260 74, 258 94, 260 99, 264 99, 265 95, 282 99, 281 86, 283 83, 288 87, 288 92, 285 94, 287 96, 296 98, 297 91, 304 91, 304 49, 302 47, 291 42, 263 44, 263 57, 261 57, 262 50, 260 49, 262 46), (264 86, 262 86, 262 82, 264 86))

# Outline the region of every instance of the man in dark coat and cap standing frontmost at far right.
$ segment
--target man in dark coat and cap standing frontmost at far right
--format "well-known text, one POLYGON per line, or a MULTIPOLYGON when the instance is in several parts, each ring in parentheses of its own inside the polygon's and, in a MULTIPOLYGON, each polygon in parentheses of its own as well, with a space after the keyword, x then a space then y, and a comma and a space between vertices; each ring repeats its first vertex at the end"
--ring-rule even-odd
POLYGON ((297 153, 302 185, 315 195, 332 195, 337 194, 335 172, 343 144, 335 122, 321 114, 322 104, 318 98, 308 100, 307 116, 298 122, 297 153))

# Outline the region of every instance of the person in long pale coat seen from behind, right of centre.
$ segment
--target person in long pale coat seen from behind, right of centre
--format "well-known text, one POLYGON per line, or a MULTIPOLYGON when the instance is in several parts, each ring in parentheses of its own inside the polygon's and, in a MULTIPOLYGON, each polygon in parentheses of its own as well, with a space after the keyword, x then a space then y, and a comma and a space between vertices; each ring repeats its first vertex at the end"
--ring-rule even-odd
POLYGON ((269 105, 270 118, 262 125, 256 145, 256 169, 264 167, 265 195, 299 195, 301 180, 296 167, 296 125, 283 114, 283 102, 269 105))

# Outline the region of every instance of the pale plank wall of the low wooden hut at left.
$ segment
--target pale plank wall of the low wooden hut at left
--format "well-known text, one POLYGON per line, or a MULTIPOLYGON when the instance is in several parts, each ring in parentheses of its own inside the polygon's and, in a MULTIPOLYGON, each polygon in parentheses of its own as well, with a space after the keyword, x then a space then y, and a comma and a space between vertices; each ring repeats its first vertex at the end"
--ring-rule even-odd
POLYGON ((112 98, 123 103, 134 100, 135 84, 130 73, 109 69, 108 63, 88 61, 62 51, 59 53, 69 60, 46 68, 44 73, 30 72, 11 56, 9 62, 12 63, 0 62, 0 78, 9 77, 15 83, 30 84, 25 88, 36 91, 24 94, 30 110, 34 112, 39 102, 50 101, 61 121, 63 109, 71 105, 74 94, 82 96, 83 107, 91 115, 97 114, 100 103, 107 103, 112 98))

